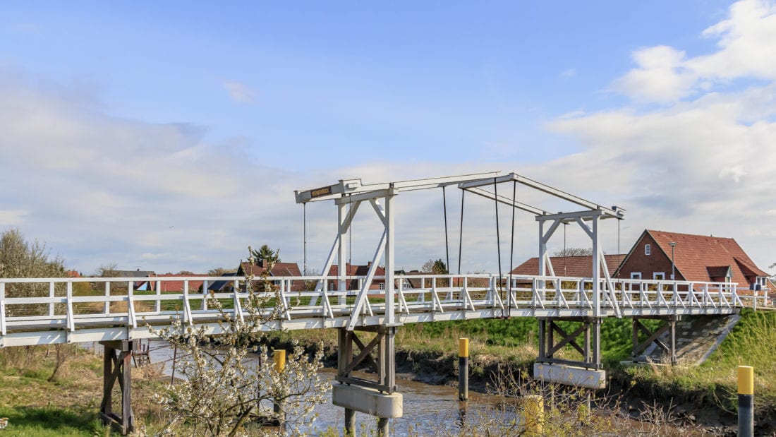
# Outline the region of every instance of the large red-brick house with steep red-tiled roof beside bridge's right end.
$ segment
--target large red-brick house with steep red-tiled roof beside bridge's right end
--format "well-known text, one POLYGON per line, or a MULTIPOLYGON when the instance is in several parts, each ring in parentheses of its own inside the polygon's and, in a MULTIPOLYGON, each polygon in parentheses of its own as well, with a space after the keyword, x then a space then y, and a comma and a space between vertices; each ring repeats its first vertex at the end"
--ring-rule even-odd
POLYGON ((766 272, 733 238, 645 230, 615 273, 622 279, 671 279, 671 244, 676 279, 767 287, 766 272))

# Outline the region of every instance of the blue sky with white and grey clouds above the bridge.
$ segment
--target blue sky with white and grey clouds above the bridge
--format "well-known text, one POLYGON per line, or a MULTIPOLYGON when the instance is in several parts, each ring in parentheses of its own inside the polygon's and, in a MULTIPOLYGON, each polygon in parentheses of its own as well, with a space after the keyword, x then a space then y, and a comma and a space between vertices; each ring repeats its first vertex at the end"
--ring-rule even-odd
MULTIPOLYGON (((602 224, 607 253, 644 229, 711 234, 774 272, 774 2, 2 9, 0 231, 70 269, 203 273, 267 244, 320 271, 336 208, 303 211, 295 189, 501 171, 625 208, 602 224)), ((463 272, 537 254, 530 214, 513 238, 511 210, 497 233, 494 205, 467 197, 461 229, 459 190, 446 196, 452 266, 459 236, 463 272)), ((448 259, 442 202, 397 197, 397 268, 448 259)), ((551 252, 589 247, 564 231, 551 252)), ((352 262, 380 233, 360 210, 352 262)))

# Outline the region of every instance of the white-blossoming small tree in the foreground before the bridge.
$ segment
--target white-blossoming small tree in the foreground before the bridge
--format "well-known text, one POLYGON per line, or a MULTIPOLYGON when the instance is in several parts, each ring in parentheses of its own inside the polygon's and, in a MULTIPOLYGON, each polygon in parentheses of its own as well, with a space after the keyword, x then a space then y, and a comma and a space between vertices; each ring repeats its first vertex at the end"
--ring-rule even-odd
MULTIPOLYGON (((251 249, 249 249, 251 250, 251 249)), ((251 250, 251 255, 253 251, 251 250)), ((310 360, 299 345, 294 343, 285 369, 278 370, 268 358, 268 350, 261 344, 263 329, 269 321, 279 318, 279 292, 272 290, 268 279, 274 262, 264 258, 266 269, 254 286, 252 276, 245 290, 248 297, 241 302, 245 314, 241 319, 223 310, 220 300, 211 297, 208 307, 219 310, 220 335, 206 335, 205 328, 186 325, 180 318, 157 333, 161 338, 181 349, 186 357, 179 359, 184 379, 168 385, 156 399, 172 414, 165 431, 185 427, 188 435, 259 435, 255 421, 265 418, 287 419, 286 428, 300 435, 300 426, 315 420, 312 410, 326 400, 328 383, 321 381, 317 370, 322 367, 323 345, 319 345, 310 360), (258 352, 258 364, 248 359, 258 352), (260 411, 262 401, 279 404, 278 412, 260 411)))

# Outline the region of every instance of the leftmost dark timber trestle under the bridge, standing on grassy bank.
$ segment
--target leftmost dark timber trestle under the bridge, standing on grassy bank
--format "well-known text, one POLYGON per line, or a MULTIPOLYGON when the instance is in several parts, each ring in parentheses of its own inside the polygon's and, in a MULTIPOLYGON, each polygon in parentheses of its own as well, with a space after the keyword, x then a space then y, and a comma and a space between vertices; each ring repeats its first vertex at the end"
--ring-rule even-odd
POLYGON ((122 435, 135 430, 132 411, 132 351, 137 340, 100 342, 105 349, 102 355, 102 404, 99 412, 102 423, 115 425, 122 435), (121 391, 121 415, 113 412, 113 387, 119 383, 121 391))

